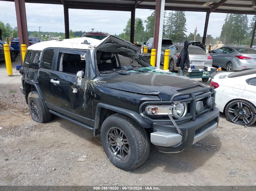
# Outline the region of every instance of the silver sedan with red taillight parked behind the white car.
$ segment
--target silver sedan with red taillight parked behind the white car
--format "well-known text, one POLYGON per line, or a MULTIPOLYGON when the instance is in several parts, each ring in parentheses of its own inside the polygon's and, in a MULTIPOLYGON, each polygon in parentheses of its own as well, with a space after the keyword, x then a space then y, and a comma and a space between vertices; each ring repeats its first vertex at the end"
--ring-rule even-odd
POLYGON ((210 53, 212 65, 228 72, 256 68, 256 50, 242 46, 224 46, 210 53))

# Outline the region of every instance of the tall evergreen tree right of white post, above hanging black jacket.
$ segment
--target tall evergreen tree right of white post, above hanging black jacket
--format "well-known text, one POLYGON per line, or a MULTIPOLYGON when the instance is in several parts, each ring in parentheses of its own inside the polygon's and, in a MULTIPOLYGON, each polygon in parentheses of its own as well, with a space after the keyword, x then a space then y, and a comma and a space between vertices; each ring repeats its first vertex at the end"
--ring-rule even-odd
POLYGON ((185 11, 175 11, 174 18, 173 35, 171 40, 182 42, 187 38, 187 35, 185 34, 185 32, 187 32, 185 11))

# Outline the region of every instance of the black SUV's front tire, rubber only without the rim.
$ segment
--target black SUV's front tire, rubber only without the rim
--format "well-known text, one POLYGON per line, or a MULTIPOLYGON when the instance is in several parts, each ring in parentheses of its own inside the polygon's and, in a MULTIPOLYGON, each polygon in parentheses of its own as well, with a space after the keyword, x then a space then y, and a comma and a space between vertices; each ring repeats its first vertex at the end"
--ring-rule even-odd
POLYGON ((133 170, 148 159, 150 150, 148 135, 145 129, 128 116, 116 113, 107 117, 101 126, 101 143, 111 163, 123 170, 133 170), (121 160, 111 151, 108 132, 113 127, 121 130, 128 139, 129 154, 126 159, 121 160))

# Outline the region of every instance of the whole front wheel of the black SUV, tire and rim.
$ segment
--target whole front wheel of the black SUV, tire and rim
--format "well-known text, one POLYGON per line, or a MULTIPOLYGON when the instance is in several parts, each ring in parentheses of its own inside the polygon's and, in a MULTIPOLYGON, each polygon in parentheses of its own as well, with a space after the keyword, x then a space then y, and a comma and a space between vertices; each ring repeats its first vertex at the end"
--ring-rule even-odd
POLYGON ((116 167, 133 170, 148 158, 148 135, 128 116, 116 113, 105 119, 101 126, 101 143, 108 159, 116 167))

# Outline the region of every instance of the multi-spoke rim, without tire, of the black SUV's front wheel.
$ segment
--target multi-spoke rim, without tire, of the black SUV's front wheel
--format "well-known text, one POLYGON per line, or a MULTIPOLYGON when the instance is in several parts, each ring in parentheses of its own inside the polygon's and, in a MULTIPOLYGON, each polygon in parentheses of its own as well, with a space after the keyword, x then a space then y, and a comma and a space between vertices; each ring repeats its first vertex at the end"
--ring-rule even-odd
POLYGON ((111 153, 120 160, 128 158, 130 148, 125 133, 118 127, 111 127, 107 135, 111 153))

